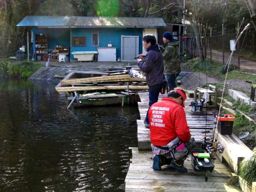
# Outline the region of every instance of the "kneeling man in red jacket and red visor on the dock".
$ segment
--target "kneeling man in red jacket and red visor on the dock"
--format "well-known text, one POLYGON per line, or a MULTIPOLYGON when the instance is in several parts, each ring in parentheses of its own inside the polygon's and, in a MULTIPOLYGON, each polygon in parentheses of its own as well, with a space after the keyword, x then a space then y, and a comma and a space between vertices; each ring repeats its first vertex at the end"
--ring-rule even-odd
POLYGON ((154 154, 153 169, 156 171, 161 171, 162 165, 170 163, 171 168, 187 172, 183 163, 189 154, 187 149, 194 146, 195 140, 191 138, 187 125, 183 109, 185 100, 185 90, 176 87, 162 101, 154 103, 148 111, 151 148, 154 154), (186 148, 182 157, 175 158, 170 153, 170 147, 175 141, 183 143, 183 146, 179 143, 182 150, 186 148))

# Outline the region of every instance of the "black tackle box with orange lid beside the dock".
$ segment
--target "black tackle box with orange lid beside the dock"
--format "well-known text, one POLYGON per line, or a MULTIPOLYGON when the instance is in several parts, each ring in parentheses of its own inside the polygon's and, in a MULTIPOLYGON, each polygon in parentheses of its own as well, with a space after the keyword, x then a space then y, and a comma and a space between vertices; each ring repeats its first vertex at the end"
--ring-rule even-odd
POLYGON ((220 134, 231 135, 233 130, 233 123, 235 121, 235 117, 233 115, 223 115, 218 116, 218 131, 220 134))

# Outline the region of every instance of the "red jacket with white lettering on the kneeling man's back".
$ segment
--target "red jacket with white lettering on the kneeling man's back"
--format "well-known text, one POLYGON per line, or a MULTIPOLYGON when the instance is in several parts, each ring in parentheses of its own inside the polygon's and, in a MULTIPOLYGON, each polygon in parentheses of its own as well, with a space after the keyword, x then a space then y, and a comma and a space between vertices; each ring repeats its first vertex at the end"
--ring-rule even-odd
POLYGON ((173 99, 163 98, 154 103, 149 111, 150 140, 155 146, 165 146, 175 137, 188 142, 189 126, 184 109, 173 99))

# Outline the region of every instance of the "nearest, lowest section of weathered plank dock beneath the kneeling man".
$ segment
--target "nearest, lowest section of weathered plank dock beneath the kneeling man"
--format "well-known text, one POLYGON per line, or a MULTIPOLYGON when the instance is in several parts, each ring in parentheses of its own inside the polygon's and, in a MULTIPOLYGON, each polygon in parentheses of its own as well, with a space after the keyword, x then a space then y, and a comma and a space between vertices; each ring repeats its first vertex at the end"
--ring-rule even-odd
POLYGON ((153 154, 151 151, 141 151, 132 148, 129 171, 125 179, 125 191, 240 191, 229 185, 230 172, 219 159, 215 160, 212 172, 194 171, 191 159, 188 157, 185 166, 187 173, 169 169, 162 166, 162 171, 152 169, 153 154))

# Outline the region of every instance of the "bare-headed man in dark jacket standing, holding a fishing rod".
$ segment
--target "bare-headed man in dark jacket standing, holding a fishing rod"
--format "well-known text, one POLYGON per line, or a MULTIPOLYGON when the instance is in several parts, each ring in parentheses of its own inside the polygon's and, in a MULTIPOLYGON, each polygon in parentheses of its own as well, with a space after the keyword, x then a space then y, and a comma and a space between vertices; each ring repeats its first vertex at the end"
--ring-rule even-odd
MULTIPOLYGON (((164 61, 161 50, 156 43, 156 37, 151 34, 143 36, 143 47, 148 52, 139 54, 138 66, 145 73, 147 85, 149 86, 149 107, 158 101, 159 93, 167 84, 164 76, 164 61)), ((149 128, 148 112, 144 120, 145 126, 149 128)))

